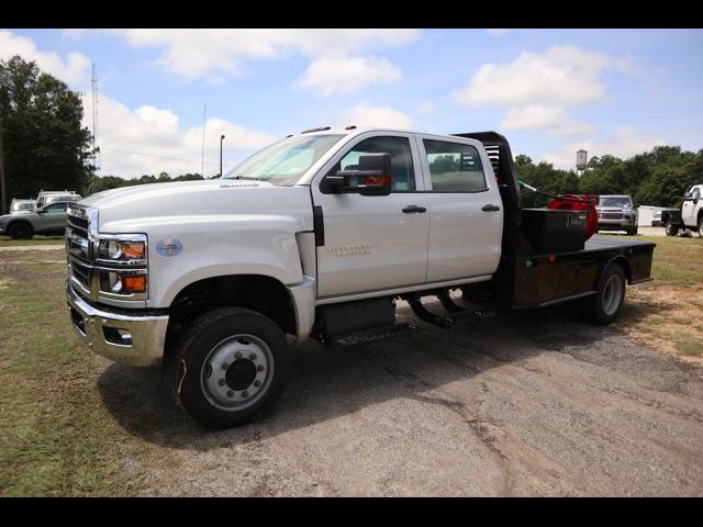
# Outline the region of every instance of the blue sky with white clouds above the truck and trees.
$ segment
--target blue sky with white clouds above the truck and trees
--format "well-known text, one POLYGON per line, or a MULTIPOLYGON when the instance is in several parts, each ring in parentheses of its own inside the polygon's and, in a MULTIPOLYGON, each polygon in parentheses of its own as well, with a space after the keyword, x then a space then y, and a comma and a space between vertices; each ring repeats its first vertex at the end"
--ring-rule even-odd
POLYGON ((101 173, 236 164, 320 125, 496 130, 514 154, 574 164, 658 144, 703 147, 701 30, 0 30, 86 90, 99 79, 101 173))

